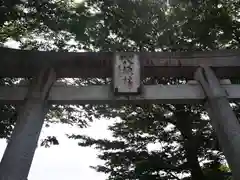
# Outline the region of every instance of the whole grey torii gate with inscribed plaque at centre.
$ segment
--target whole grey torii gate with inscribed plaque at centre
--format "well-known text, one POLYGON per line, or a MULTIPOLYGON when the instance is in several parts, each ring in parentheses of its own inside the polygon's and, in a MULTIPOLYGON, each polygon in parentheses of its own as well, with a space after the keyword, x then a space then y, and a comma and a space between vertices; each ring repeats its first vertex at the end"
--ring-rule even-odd
POLYGON ((205 103, 233 177, 240 179, 240 124, 228 102, 240 100, 240 85, 222 80, 240 78, 239 50, 75 53, 0 48, 0 54, 0 77, 32 77, 29 87, 0 87, 0 103, 22 106, 0 164, 0 180, 27 179, 48 104, 85 103, 205 103), (151 76, 191 81, 141 85, 140 77, 151 76), (54 84, 64 77, 113 77, 113 85, 54 84))

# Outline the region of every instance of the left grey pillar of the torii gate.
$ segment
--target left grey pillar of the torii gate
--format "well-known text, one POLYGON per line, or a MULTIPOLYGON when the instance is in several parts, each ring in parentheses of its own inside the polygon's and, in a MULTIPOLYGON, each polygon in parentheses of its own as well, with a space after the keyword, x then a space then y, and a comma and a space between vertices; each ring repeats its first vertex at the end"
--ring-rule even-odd
POLYGON ((55 80, 54 70, 48 68, 32 79, 0 163, 0 180, 27 180, 55 80))

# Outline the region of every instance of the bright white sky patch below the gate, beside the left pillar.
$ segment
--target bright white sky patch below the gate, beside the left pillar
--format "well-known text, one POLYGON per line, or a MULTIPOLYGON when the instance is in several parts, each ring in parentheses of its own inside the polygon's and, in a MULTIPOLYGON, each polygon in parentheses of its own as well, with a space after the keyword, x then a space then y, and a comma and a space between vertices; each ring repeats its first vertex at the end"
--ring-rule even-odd
MULTIPOLYGON (((92 123, 90 128, 80 129, 77 127, 55 124, 44 127, 40 139, 50 135, 56 135, 59 140, 58 146, 50 148, 38 147, 32 162, 28 180, 105 180, 106 175, 98 173, 89 166, 103 164, 97 158, 98 151, 94 148, 78 146, 77 140, 71 140, 66 134, 85 134, 95 138, 111 138, 108 125, 114 120, 100 119, 92 123)), ((0 140, 0 155, 6 147, 6 141, 0 140)))

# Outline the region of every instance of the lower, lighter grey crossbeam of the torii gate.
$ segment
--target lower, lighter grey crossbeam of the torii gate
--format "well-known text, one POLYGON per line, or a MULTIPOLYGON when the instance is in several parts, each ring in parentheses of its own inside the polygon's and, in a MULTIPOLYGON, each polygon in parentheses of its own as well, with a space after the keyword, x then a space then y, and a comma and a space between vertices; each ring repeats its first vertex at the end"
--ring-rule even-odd
MULTIPOLYGON (((230 100, 240 100, 240 85, 222 85, 230 100)), ((27 94, 26 86, 0 87, 0 103, 21 103, 27 94)), ((116 97, 111 86, 59 86, 52 87, 49 95, 51 104, 194 104, 205 99, 199 84, 148 85, 140 96, 116 97)))

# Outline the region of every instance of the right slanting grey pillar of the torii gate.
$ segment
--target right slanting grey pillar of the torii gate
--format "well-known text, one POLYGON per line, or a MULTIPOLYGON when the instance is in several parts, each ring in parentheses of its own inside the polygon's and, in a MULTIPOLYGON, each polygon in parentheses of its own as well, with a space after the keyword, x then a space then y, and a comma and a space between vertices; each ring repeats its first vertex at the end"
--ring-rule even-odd
POLYGON ((210 67, 201 67, 195 74, 207 96, 207 110, 234 180, 240 179, 240 124, 227 99, 227 92, 210 67))

